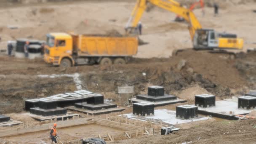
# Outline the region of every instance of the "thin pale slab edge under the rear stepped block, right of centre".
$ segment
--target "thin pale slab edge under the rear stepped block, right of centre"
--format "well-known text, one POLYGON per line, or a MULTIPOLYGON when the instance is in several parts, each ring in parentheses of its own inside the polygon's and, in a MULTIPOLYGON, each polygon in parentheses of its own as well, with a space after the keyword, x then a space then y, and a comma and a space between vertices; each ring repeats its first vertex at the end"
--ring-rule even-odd
POLYGON ((155 107, 187 102, 187 100, 184 100, 184 99, 173 99, 173 100, 168 100, 168 101, 146 101, 146 100, 141 100, 141 99, 137 99, 137 98, 130 99, 130 101, 132 101, 133 103, 151 102, 151 103, 155 104, 155 107))

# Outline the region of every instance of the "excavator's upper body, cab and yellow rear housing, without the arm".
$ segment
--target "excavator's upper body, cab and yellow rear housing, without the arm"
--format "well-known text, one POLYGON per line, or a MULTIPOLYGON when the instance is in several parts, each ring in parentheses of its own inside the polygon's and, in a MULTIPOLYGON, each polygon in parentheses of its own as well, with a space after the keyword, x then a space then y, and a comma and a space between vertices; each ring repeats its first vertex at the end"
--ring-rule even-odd
POLYGON ((197 29, 193 45, 195 49, 243 49, 243 39, 235 34, 217 33, 213 29, 197 29))

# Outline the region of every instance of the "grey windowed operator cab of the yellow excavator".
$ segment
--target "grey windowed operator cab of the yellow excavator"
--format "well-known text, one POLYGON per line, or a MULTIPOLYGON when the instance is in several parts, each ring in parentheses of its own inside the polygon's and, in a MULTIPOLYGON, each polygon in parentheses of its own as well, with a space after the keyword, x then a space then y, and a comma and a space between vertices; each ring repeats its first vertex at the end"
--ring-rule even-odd
POLYGON ((213 29, 197 29, 193 38, 195 49, 218 48, 218 34, 213 29))

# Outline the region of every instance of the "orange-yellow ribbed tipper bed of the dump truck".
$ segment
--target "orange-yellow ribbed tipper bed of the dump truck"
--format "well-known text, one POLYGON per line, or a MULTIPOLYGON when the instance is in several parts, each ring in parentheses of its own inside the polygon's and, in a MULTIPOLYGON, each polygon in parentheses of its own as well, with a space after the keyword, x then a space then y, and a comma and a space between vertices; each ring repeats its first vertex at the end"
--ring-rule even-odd
POLYGON ((133 56, 138 51, 137 37, 72 35, 78 56, 133 56))

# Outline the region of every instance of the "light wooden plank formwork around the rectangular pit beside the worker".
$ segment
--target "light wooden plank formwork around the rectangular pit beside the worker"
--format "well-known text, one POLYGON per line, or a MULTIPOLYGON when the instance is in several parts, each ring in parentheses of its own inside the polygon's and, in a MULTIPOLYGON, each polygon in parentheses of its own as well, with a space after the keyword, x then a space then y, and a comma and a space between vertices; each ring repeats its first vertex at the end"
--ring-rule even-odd
MULTIPOLYGON (((121 117, 123 119, 124 117, 121 117)), ((125 118, 124 118, 125 119, 125 118)), ((154 130, 153 128, 145 128, 138 125, 132 125, 125 120, 125 123, 122 123, 122 120, 119 120, 117 116, 115 117, 106 117, 106 119, 98 118, 98 117, 90 117, 90 118, 72 118, 70 120, 61 120, 61 121, 51 121, 51 123, 42 124, 42 125, 35 125, 31 123, 24 122, 23 125, 19 127, 13 127, 9 129, 0 130, 0 137, 6 136, 15 136, 24 133, 32 133, 37 131, 46 131, 50 130, 53 123, 58 124, 58 128, 68 128, 76 125, 85 125, 85 124, 98 124, 104 125, 112 128, 119 128, 124 130, 125 132, 122 133, 106 133, 106 135, 99 135, 98 137, 104 139, 106 141, 114 141, 115 138, 119 137, 126 137, 126 138, 134 138, 143 135, 153 135, 154 130)), ((64 144, 81 144, 81 139, 76 139, 72 141, 66 141, 64 144)))

